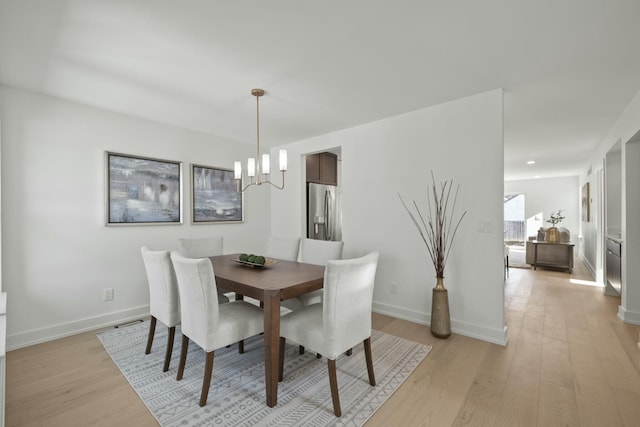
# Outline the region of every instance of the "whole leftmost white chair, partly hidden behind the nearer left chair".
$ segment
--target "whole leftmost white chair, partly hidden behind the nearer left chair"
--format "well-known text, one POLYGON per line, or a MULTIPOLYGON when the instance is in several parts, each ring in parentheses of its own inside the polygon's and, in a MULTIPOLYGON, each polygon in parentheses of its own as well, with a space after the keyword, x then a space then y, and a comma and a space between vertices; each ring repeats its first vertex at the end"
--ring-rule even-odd
POLYGON ((156 322, 159 320, 168 328, 167 348, 162 368, 163 372, 167 372, 171 362, 171 353, 173 352, 176 325, 180 323, 178 284, 176 283, 169 251, 152 251, 146 246, 143 246, 140 251, 142 252, 142 260, 144 261, 147 282, 149 283, 149 312, 151 314, 149 336, 144 354, 151 352, 153 337, 156 332, 156 322))

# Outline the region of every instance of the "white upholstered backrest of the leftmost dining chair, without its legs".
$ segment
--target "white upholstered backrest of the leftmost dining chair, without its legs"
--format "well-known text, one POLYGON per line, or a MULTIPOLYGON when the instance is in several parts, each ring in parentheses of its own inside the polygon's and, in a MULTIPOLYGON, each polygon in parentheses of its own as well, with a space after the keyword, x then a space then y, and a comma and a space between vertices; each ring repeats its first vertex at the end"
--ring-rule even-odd
POLYGON ((180 323, 180 298, 169 251, 143 246, 140 252, 149 283, 149 312, 168 327, 176 326, 180 323))

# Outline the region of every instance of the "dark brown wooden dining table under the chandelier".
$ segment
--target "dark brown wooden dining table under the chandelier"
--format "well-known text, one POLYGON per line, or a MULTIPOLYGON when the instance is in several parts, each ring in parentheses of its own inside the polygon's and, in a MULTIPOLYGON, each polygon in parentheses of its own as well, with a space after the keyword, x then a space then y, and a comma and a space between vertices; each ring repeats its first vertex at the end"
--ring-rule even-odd
POLYGON ((267 406, 274 407, 278 403, 280 301, 321 289, 324 266, 273 260, 272 265, 254 267, 239 263, 238 257, 239 254, 231 254, 210 259, 218 286, 262 302, 267 406))

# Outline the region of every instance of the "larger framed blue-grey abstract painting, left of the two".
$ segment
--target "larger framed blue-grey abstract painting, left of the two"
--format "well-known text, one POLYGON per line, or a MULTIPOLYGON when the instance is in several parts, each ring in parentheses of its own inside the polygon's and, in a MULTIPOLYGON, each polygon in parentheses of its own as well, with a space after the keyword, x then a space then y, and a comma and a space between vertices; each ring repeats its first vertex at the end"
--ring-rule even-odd
POLYGON ((106 152, 107 225, 181 224, 182 163, 106 152))

